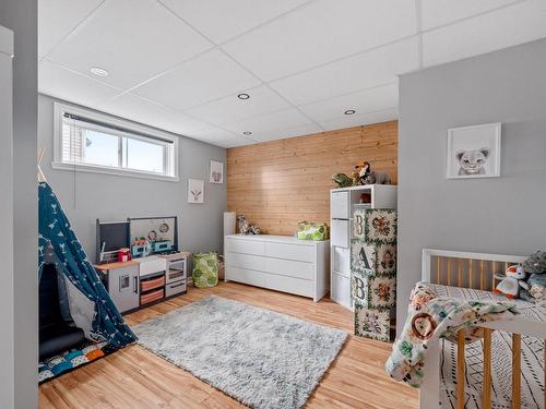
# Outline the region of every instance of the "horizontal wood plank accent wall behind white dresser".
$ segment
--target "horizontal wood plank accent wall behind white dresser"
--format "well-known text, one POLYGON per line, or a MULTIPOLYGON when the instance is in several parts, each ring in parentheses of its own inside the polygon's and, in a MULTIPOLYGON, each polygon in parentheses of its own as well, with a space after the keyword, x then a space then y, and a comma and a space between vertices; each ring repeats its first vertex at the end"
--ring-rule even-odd
POLYGON ((397 121, 321 132, 227 149, 227 209, 270 234, 297 222, 330 224, 332 175, 368 160, 397 178, 397 121))

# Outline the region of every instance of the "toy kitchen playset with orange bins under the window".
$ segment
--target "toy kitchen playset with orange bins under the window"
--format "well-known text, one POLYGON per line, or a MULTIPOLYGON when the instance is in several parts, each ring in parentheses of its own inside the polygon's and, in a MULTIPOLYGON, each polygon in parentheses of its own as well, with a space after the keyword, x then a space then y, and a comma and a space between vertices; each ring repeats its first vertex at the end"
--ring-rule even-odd
POLYGON ((178 251, 176 216, 97 219, 95 268, 121 313, 186 293, 190 256, 178 251))

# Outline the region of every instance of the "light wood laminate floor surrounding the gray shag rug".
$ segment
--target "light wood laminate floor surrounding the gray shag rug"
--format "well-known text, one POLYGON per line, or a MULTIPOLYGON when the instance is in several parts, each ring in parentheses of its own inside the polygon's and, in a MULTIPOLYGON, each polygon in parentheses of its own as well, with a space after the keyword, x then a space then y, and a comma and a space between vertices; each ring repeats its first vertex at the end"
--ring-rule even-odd
MULTIPOLYGON (((349 311, 236 282, 190 288, 186 296, 126 315, 134 325, 210 294, 352 332, 349 311)), ((306 408, 417 408, 417 390, 383 370, 391 345, 351 335, 306 408)), ((242 408, 190 373, 133 345, 39 387, 39 408, 242 408)))

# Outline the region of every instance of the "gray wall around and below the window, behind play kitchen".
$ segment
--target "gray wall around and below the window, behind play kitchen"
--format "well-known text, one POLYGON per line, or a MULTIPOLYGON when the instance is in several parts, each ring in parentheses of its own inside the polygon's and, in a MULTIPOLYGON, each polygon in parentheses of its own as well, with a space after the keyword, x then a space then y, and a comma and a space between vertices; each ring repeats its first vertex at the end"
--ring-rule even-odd
POLYGON ((115 221, 176 215, 183 250, 222 251, 227 188, 225 182, 209 183, 209 169, 210 160, 225 166, 225 148, 180 137, 179 182, 52 169, 55 100, 46 95, 38 97, 38 145, 46 148, 41 168, 93 261, 96 218, 115 221), (187 202, 188 178, 204 180, 204 204, 187 202))

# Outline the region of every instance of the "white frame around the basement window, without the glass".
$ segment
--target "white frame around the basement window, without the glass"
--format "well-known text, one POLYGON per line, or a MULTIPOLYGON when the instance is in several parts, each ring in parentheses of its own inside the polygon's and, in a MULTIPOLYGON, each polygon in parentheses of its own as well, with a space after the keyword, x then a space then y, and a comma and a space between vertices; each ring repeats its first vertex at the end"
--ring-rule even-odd
MULTIPOLYGON (((98 125, 92 125, 99 129, 98 125)), ((104 132, 102 130, 100 132, 104 132)), ((110 131, 111 132, 111 131, 110 131)), ((71 170, 71 171, 83 171, 92 173, 105 173, 115 176, 126 176, 133 178, 144 178, 144 179, 157 179, 171 182, 180 181, 178 168, 179 168, 179 137, 168 134, 166 132, 161 132, 155 129, 139 125, 134 122, 126 121, 122 119, 112 118, 108 115, 91 111, 85 108, 74 107, 67 104, 54 103, 54 161, 51 167, 54 169, 60 170, 71 170), (173 144, 171 154, 164 156, 164 169, 171 169, 173 175, 161 175, 156 172, 150 172, 145 170, 135 170, 127 168, 115 168, 109 166, 92 165, 92 164, 78 164, 69 163, 62 160, 62 120, 64 112, 73 113, 80 117, 88 118, 98 122, 105 123, 105 125, 112 125, 126 130, 127 132, 116 130, 116 135, 128 136, 133 140, 141 140, 145 142, 153 142, 154 137, 158 140, 168 141, 173 144), (134 132, 131 133, 131 132, 134 132), (150 135, 146 139, 142 135, 150 135), (171 166, 173 161, 173 166, 171 166)))

